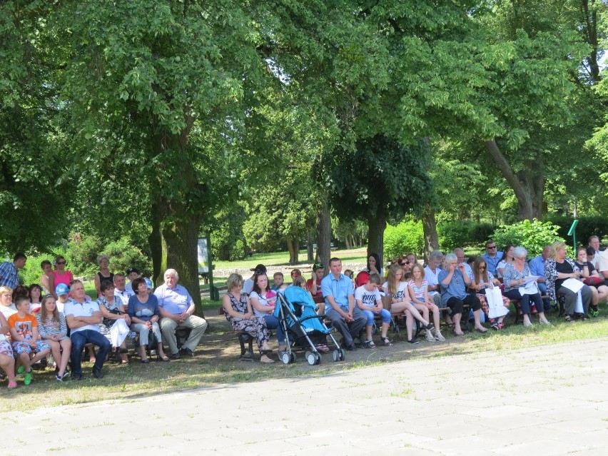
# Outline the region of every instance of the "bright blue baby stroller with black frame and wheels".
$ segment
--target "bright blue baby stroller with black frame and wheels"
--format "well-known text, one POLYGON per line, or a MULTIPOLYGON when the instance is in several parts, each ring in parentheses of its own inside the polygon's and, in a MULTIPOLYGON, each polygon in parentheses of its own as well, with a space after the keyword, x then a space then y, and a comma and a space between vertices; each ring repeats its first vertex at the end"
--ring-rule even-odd
POLYGON ((274 315, 290 340, 280 356, 284 364, 295 363, 294 350, 306 350, 304 357, 308 364, 319 364, 321 355, 315 345, 325 343, 328 335, 336 348, 333 360, 344 360, 345 351, 331 334, 332 330, 323 323, 325 315, 317 315, 317 305, 306 290, 295 286, 285 288, 284 293, 278 293, 277 304, 274 315))

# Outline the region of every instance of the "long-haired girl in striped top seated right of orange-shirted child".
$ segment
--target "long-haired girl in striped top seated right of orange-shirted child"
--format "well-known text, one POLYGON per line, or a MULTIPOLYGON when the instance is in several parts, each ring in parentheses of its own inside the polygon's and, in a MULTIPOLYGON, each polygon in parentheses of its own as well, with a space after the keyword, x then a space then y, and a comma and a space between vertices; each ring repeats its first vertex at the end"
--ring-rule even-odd
POLYGON ((55 380, 63 382, 69 375, 67 370, 72 342, 67 336, 68 326, 63 312, 57 310, 53 295, 42 298, 40 312, 36 315, 40 337, 51 347, 51 354, 57 365, 55 380))

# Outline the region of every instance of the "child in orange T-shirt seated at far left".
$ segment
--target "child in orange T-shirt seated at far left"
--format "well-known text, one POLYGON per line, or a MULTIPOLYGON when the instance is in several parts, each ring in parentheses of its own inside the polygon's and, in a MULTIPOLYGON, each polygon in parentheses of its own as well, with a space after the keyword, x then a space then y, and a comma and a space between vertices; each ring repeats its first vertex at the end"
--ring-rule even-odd
POLYGON ((17 373, 24 373, 24 383, 31 383, 31 365, 37 363, 51 351, 49 344, 39 340, 38 322, 29 313, 29 298, 17 296, 17 313, 9 317, 9 328, 13 340, 13 351, 17 360, 17 373), (30 359, 30 353, 35 353, 30 359))

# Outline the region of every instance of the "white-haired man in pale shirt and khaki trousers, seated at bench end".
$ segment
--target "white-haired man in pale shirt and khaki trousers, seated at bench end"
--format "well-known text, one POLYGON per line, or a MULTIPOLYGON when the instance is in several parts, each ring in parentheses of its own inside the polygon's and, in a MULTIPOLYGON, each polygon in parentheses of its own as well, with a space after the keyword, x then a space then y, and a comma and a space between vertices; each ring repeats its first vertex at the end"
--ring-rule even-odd
POLYGON ((178 360, 181 355, 194 356, 196 345, 207 329, 207 320, 194 314, 194 301, 188 290, 178 285, 179 275, 175 269, 165 272, 165 283, 154 292, 161 313, 161 331, 169 346, 170 358, 178 360), (188 340, 178 350, 176 329, 190 328, 188 340))

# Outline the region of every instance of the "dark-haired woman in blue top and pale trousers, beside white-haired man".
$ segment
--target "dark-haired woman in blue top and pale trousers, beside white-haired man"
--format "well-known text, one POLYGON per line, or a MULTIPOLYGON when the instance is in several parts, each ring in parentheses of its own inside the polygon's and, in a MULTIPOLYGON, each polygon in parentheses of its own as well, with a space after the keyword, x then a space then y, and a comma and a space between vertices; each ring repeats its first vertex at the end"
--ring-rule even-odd
POLYGON ((146 353, 150 332, 156 336, 156 360, 169 361, 169 357, 163 351, 163 335, 161 334, 161 328, 158 326, 158 319, 161 318, 158 311, 158 299, 155 295, 150 294, 145 278, 138 277, 131 282, 131 285, 135 295, 128 298, 128 316, 131 317, 131 329, 139 333, 141 363, 150 363, 148 353, 146 353))

